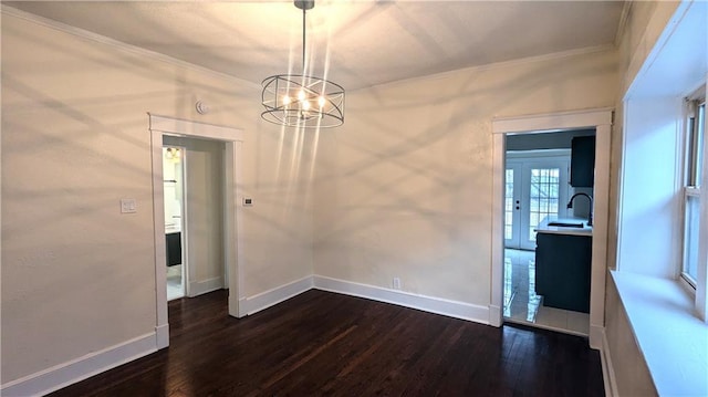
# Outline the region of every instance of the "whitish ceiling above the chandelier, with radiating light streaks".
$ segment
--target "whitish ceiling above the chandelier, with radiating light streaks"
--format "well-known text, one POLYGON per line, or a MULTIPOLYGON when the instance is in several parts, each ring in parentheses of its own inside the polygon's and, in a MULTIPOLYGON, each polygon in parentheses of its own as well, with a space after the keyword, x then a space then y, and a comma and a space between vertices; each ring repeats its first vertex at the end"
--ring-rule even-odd
MULTIPOLYGON (((302 72, 302 11, 291 1, 3 4, 257 84, 289 67, 302 72)), ((306 13, 308 72, 355 90, 612 45, 623 7, 624 1, 317 0, 306 13)))

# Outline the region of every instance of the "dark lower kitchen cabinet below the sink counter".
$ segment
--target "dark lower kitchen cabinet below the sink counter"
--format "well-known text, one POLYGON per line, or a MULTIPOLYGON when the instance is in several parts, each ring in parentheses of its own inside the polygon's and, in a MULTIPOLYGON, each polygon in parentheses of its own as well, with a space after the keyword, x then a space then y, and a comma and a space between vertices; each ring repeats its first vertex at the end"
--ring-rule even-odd
POLYGON ((535 293, 543 305, 590 313, 592 237, 539 232, 535 293))

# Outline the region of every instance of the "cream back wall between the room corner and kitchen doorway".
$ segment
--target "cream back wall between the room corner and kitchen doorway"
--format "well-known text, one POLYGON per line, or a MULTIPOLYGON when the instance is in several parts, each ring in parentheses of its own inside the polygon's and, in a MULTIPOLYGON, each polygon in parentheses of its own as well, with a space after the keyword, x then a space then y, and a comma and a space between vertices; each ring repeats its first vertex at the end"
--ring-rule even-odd
POLYGON ((315 274, 488 306, 492 119, 611 106, 615 72, 607 51, 347 94, 320 137, 315 274))

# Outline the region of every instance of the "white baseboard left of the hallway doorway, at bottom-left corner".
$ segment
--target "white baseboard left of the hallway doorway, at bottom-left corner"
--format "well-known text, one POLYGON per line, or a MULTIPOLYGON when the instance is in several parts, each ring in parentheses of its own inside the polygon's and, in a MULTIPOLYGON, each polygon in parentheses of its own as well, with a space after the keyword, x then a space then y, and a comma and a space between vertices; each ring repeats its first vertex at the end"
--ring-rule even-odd
POLYGON ((0 388, 4 397, 43 396, 96 374, 157 352, 152 332, 121 344, 86 354, 66 363, 8 382, 0 388))

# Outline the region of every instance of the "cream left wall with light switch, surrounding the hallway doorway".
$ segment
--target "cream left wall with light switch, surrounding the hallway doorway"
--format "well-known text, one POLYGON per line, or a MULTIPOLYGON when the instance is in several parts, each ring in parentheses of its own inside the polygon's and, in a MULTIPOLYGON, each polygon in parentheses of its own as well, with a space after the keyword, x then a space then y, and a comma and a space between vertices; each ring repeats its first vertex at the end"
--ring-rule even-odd
POLYGON ((241 297, 312 273, 310 146, 260 121, 260 86, 4 6, 1 33, 3 385, 155 332, 147 112, 244 132, 256 205, 243 211, 241 297), (121 198, 137 213, 121 215, 121 198))

